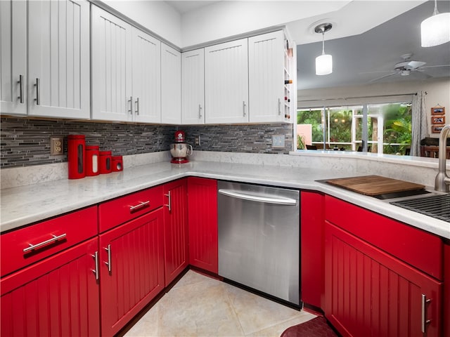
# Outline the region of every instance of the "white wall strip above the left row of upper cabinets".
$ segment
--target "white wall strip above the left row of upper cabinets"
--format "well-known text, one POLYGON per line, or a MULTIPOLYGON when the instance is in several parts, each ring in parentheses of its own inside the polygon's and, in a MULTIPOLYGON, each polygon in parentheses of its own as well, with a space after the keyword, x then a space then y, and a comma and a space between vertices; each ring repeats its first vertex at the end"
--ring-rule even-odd
MULTIPOLYGON (((0 0, 1 1, 1 0, 0 0)), ((181 15, 165 1, 103 0, 131 20, 181 47, 181 15)))

